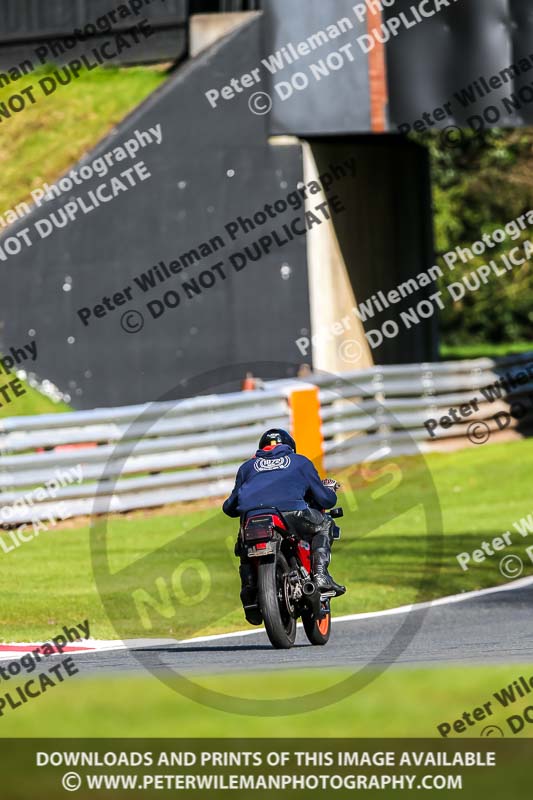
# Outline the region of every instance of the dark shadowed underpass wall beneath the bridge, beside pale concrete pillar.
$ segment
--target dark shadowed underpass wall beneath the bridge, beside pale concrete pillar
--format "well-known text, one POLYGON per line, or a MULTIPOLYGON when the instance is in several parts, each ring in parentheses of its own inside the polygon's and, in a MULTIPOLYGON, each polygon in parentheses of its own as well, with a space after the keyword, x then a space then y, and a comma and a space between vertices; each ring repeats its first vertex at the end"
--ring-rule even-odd
MULTIPOLYGON (((335 218, 335 233, 355 299, 385 295, 435 263, 428 154, 401 136, 357 136, 313 139, 319 171, 352 157, 355 178, 335 188, 346 213, 335 218)), ((397 305, 377 311, 363 324, 381 330, 388 319, 416 306, 435 291, 427 286, 397 305)), ((384 337, 372 350, 376 364, 403 364, 438 359, 437 313, 408 330, 400 325, 394 339, 384 337)))

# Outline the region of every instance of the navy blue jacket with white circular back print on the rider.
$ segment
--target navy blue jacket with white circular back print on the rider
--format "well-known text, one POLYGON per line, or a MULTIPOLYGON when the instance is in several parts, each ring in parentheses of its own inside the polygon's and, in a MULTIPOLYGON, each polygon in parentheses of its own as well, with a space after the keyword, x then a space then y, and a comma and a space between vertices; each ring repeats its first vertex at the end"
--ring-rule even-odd
POLYGON ((258 450, 239 467, 235 487, 222 506, 228 517, 239 517, 256 508, 301 511, 311 503, 332 508, 337 495, 326 488, 313 463, 280 444, 258 450))

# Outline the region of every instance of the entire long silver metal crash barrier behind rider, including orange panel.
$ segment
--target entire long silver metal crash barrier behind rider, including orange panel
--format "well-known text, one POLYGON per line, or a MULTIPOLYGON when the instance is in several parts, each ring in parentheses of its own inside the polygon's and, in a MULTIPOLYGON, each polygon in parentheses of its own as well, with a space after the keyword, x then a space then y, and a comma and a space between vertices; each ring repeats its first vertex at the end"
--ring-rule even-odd
POLYGON ((487 442, 533 430, 533 352, 498 361, 375 367, 342 377, 314 374, 305 382, 264 386, 3 420, 2 521, 58 517, 59 503, 62 516, 78 516, 226 495, 237 466, 275 425, 297 433, 300 452, 328 473, 390 455, 484 444, 469 439, 473 423, 488 430, 487 442), (489 398, 481 391, 487 387, 493 387, 489 398), (470 413, 431 435, 429 419, 461 407, 470 413), (78 465, 80 483, 61 480, 78 465), (37 491, 51 480, 59 484, 53 497, 37 491))

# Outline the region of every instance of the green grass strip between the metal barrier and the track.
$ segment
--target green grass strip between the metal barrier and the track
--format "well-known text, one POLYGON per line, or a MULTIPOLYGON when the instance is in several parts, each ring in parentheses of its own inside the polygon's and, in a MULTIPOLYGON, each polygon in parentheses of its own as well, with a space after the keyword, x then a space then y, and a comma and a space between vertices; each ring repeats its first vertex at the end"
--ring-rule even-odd
MULTIPOLYGON (((532 512, 533 441, 428 456, 436 494, 420 461, 400 463, 402 480, 390 495, 393 500, 387 494, 375 500, 382 482, 356 489, 357 506, 351 511, 350 498, 340 498, 347 513, 332 572, 348 592, 335 601, 336 614, 504 582, 498 558, 463 572, 456 555, 473 551, 532 512), (424 515, 424 504, 437 503, 442 539, 437 528, 427 531, 424 515)), ((237 560, 231 552, 235 522, 218 506, 114 516, 107 537, 101 525, 93 538, 97 582, 108 598, 105 609, 95 586, 86 525, 40 531, 12 552, 0 552, 5 641, 44 640, 58 627, 86 618, 98 638, 185 638, 242 629, 237 560), (109 580, 102 578, 106 538, 109 580)), ((9 543, 8 534, 2 536, 9 543)))

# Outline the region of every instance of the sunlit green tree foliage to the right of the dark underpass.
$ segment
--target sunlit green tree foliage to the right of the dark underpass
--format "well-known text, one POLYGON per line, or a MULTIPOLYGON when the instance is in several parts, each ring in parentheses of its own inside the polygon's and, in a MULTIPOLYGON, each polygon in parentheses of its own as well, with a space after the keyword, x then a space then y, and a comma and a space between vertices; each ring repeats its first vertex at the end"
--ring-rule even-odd
MULTIPOLYGON (((452 129, 416 137, 429 148, 433 174, 435 238, 444 287, 450 270, 442 255, 460 246, 471 248, 483 234, 505 228, 511 220, 533 209, 533 129, 492 129, 483 133, 452 129)), ((458 262, 452 276, 459 281, 491 259, 525 240, 507 237, 468 264, 458 262)), ((446 301, 441 315, 445 344, 500 344, 533 339, 533 264, 528 261, 504 277, 491 275, 477 292, 446 301)))

